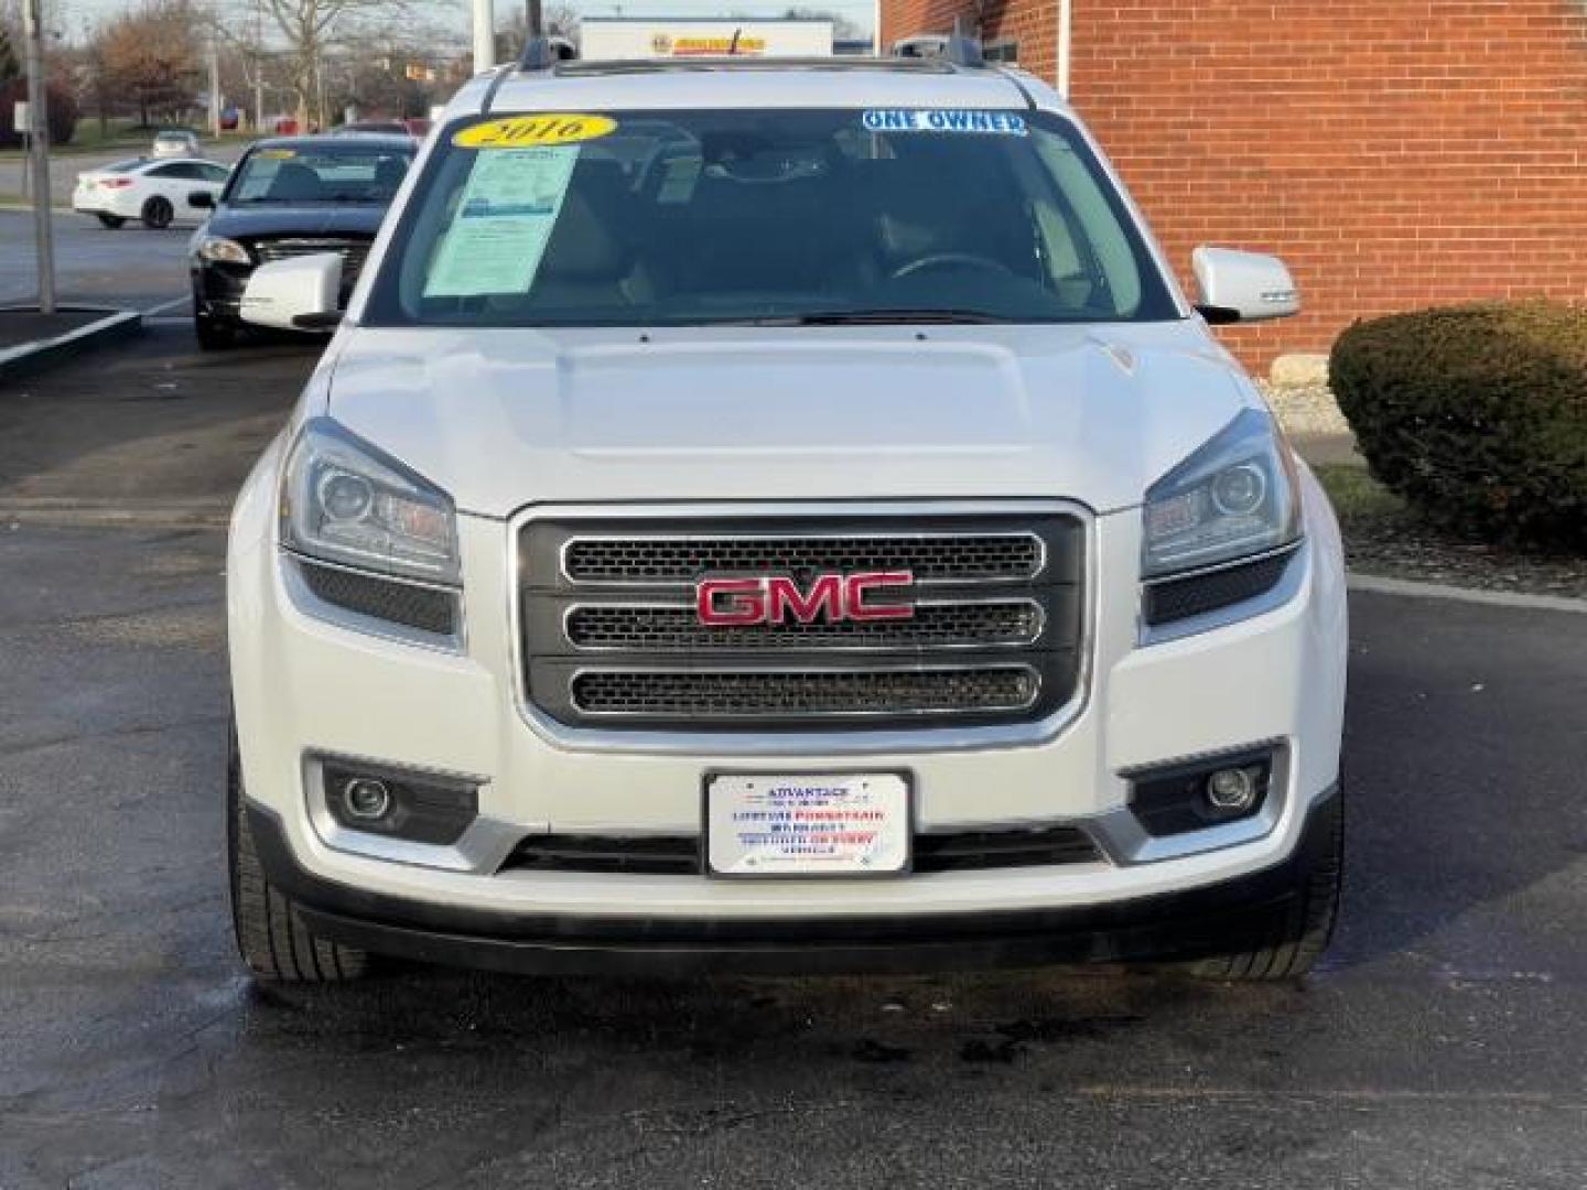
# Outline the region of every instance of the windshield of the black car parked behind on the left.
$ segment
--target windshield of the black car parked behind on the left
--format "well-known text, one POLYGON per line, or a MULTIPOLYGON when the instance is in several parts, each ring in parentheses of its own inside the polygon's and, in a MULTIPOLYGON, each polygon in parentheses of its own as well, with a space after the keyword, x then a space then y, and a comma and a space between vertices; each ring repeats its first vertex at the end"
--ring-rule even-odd
POLYGON ((316 144, 256 149, 236 167, 225 202, 262 203, 389 203, 413 162, 413 149, 394 146, 316 144))

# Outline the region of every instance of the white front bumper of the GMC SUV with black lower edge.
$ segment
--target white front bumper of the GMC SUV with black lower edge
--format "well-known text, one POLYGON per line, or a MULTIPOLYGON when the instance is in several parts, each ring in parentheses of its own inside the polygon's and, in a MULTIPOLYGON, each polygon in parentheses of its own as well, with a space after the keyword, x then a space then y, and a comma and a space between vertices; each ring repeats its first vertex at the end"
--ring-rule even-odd
POLYGON ((724 950, 751 965, 797 952, 800 969, 871 966, 873 950, 908 942, 903 949, 919 952, 922 939, 928 954, 963 949, 974 965, 1017 952, 1032 962, 1027 942, 1036 962, 1181 954, 1208 946, 1214 933, 1227 936, 1212 927, 1243 917, 1239 906, 1258 917, 1273 911, 1309 846, 1308 823, 1338 781, 1343 571, 1331 514, 1309 478, 1309 544, 1295 560, 1293 597, 1179 639, 1143 643, 1138 512, 1095 517, 1086 697, 1046 733, 619 741, 568 738, 525 712, 508 524, 460 517, 459 652, 305 614, 275 543, 278 463, 276 452, 260 463, 232 528, 243 776, 271 877, 303 900, 327 936, 375 950, 511 966, 582 965, 594 950, 613 950, 652 969, 724 950), (1105 823, 1125 806, 1133 770, 1255 743, 1285 755, 1260 833, 1190 849, 1109 850, 1062 866, 887 881, 501 869, 500 852, 490 863, 443 869, 411 855, 357 854, 317 825, 306 763, 329 754, 476 777, 481 816, 511 838, 692 835, 708 771, 874 768, 911 774, 919 831, 1071 823, 1106 841, 1105 823))

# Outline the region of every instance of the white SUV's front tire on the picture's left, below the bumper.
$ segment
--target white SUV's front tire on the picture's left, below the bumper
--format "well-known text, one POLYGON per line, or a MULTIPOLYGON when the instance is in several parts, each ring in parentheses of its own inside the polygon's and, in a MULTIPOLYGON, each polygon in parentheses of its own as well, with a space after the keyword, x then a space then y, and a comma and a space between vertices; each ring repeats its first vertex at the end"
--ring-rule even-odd
POLYGON ((225 766, 227 862, 232 876, 232 928, 236 949, 254 979, 271 984, 340 984, 362 979, 363 950, 316 938, 294 901, 265 879, 254 833, 248 825, 236 724, 230 728, 225 766))

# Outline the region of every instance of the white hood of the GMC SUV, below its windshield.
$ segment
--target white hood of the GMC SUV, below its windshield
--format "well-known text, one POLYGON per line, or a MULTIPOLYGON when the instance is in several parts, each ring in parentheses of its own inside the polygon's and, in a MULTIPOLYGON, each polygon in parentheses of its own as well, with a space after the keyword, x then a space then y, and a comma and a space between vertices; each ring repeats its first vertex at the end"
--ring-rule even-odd
POLYGON ((1146 487, 1258 398, 1198 321, 373 330, 329 413, 465 512, 528 503, 1066 497, 1146 487))

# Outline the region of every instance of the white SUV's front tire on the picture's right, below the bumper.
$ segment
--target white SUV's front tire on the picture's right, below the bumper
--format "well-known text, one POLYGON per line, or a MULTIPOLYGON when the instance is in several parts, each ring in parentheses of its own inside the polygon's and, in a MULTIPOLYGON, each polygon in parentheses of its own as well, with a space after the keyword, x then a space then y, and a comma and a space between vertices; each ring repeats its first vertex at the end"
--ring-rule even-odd
POLYGON ((1344 879, 1344 789, 1324 811, 1322 847, 1311 869, 1301 876, 1289 911, 1273 923, 1268 938, 1255 946, 1187 963, 1197 979, 1260 982, 1300 979, 1328 949, 1339 917, 1339 890, 1344 879))

